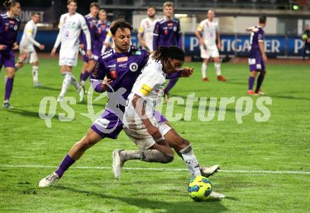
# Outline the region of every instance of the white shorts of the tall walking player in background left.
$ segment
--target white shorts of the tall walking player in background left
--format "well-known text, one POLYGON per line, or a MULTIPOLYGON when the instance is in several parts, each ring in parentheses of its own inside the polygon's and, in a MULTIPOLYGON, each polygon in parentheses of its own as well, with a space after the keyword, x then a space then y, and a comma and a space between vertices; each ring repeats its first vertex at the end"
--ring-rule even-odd
POLYGON ((61 48, 59 51, 59 66, 76 66, 78 53, 78 47, 72 47, 70 49, 61 48))

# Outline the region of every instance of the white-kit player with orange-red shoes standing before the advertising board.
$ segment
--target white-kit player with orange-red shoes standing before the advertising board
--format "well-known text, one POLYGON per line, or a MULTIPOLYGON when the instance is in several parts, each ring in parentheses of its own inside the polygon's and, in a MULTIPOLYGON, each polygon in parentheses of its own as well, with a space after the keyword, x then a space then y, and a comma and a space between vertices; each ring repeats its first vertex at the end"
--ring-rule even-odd
POLYGON ((202 62, 202 80, 209 81, 209 79, 206 78, 206 69, 209 59, 213 58, 218 80, 225 81, 226 79, 221 74, 221 60, 218 54, 218 49, 222 47, 221 38, 218 33, 218 23, 213 20, 214 16, 214 11, 209 10, 207 18, 202 20, 196 31, 196 36, 199 39, 201 57, 204 59, 202 62), (216 44, 216 40, 218 44, 216 44))

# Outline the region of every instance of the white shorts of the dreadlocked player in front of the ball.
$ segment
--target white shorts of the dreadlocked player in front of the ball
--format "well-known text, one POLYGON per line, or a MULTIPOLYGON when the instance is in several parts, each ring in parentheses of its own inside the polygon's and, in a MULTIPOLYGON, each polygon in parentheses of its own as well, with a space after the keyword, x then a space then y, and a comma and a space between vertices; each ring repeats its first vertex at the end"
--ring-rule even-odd
POLYGON ((132 115, 134 112, 130 111, 129 113, 124 114, 124 126, 123 130, 128 135, 130 140, 137 145, 137 147, 140 148, 140 150, 148 150, 150 147, 152 147, 157 141, 164 140, 163 137, 168 133, 169 130, 171 130, 171 127, 168 126, 166 123, 163 123, 161 121, 157 121, 154 117, 149 117, 151 123, 159 128, 159 132, 161 133, 161 138, 158 140, 154 140, 154 138, 149 135, 149 132, 147 131, 146 126, 139 118, 132 118, 132 115))

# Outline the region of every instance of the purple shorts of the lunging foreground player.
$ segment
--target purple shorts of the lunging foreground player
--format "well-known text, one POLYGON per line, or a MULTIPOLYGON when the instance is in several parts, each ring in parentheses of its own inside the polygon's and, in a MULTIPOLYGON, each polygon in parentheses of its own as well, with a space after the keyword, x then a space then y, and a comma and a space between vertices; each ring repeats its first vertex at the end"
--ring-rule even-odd
MULTIPOLYGON (((158 111, 154 112, 154 117, 161 122, 166 122, 167 119, 158 111)), ((113 112, 104 110, 104 113, 97 118, 90 127, 94 132, 101 136, 101 138, 118 138, 120 131, 123 130, 123 122, 113 112)))

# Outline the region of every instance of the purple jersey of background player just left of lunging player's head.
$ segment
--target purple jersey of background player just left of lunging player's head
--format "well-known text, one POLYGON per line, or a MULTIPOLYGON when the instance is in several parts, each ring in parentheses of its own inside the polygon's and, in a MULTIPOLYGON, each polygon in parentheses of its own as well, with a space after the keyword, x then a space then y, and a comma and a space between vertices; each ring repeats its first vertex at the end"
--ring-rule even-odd
POLYGON ((96 32, 96 40, 94 42, 94 52, 95 54, 101 55, 101 49, 104 43, 104 40, 106 39, 106 35, 108 34, 110 30, 110 22, 104 22, 101 23, 99 20, 97 23, 97 32, 96 32))

